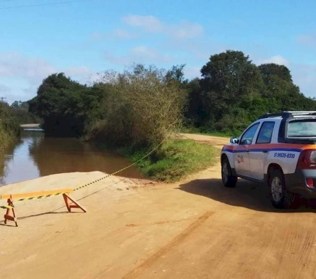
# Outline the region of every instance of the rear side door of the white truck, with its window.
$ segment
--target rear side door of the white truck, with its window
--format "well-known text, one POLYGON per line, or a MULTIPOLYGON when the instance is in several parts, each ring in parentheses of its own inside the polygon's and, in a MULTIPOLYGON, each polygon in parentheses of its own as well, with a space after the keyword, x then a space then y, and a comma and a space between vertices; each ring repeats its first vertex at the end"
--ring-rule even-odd
POLYGON ((271 143, 273 129, 275 126, 274 121, 262 122, 259 133, 254 145, 254 149, 249 153, 249 162, 251 176, 263 179, 264 178, 264 162, 269 153, 269 144, 271 143))

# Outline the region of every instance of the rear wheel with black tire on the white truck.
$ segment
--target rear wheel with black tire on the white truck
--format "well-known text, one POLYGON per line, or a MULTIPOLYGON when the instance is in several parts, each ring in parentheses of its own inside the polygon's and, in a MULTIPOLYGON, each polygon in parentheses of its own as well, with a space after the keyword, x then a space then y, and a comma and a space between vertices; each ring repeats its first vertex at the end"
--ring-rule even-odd
POLYGON ((289 208, 294 204, 295 194, 290 193, 286 188, 282 170, 271 170, 268 183, 271 203, 275 208, 289 208))

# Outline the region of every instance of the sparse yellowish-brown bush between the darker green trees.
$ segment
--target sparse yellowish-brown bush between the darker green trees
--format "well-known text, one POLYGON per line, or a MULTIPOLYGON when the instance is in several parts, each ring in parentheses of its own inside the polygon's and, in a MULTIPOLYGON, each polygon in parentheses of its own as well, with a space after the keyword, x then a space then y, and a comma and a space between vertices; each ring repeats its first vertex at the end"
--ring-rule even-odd
POLYGON ((124 73, 107 72, 102 118, 89 138, 115 146, 149 147, 179 128, 186 92, 170 71, 136 65, 124 73))

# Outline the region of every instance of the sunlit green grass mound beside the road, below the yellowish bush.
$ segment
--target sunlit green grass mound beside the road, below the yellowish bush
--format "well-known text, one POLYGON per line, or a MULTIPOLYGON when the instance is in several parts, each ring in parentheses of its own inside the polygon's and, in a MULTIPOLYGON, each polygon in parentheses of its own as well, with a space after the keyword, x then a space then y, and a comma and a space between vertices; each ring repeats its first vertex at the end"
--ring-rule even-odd
MULTIPOLYGON (((148 150, 124 149, 125 156, 136 162, 148 150)), ((159 149, 137 165, 143 175, 156 181, 179 181, 185 176, 206 169, 219 161, 220 151, 194 140, 167 140, 159 149)))

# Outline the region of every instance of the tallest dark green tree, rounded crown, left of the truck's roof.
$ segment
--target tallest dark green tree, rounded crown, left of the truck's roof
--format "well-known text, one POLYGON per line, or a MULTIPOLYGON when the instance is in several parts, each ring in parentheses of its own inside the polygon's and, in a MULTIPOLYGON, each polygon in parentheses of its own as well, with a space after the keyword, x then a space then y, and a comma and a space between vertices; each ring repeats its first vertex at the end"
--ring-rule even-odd
POLYGON ((261 104, 258 99, 263 80, 256 65, 243 52, 227 50, 210 56, 201 74, 201 96, 197 98, 201 100, 200 115, 205 117, 203 124, 208 128, 241 129, 261 113, 262 108, 258 113, 248 110, 254 103, 261 104))

